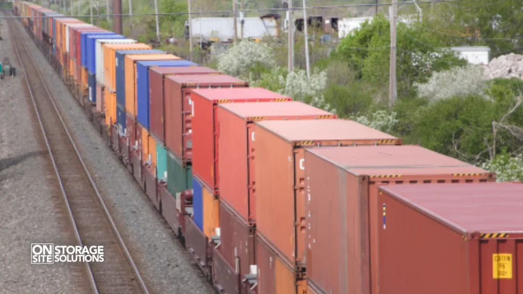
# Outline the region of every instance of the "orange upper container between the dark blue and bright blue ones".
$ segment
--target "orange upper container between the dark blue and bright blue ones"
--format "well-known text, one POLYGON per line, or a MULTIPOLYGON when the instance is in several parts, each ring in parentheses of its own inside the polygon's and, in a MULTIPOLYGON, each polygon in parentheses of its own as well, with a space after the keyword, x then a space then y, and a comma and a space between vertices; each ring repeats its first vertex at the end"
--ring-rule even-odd
POLYGON ((125 80, 126 80, 126 111, 136 117, 137 106, 137 87, 136 87, 136 62, 142 60, 179 60, 173 54, 128 54, 125 61, 125 80))

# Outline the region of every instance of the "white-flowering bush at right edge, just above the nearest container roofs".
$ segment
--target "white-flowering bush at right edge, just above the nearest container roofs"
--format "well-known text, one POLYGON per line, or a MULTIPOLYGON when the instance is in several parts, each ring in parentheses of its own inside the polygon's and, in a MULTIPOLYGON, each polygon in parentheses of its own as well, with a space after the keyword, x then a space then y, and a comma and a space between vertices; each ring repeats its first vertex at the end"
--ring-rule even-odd
POLYGON ((496 182, 523 181, 523 155, 497 154, 492 160, 482 163, 481 168, 496 173, 496 182))

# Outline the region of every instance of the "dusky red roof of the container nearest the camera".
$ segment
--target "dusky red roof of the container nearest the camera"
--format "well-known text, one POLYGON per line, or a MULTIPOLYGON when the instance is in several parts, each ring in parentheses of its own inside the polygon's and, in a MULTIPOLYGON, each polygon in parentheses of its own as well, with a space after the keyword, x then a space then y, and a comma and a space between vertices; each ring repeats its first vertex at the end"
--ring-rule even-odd
POLYGON ((390 185, 380 189, 462 232, 523 232, 520 183, 390 185))

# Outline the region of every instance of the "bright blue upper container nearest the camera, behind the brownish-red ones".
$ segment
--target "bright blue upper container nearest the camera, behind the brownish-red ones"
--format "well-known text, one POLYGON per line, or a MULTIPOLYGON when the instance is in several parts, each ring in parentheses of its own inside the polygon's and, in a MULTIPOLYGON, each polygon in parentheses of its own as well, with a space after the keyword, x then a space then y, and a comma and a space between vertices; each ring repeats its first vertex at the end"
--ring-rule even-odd
POLYGON ((187 60, 155 60, 136 63, 137 120, 147 130, 150 129, 149 97, 151 92, 149 91, 149 67, 151 66, 198 66, 198 64, 187 60))

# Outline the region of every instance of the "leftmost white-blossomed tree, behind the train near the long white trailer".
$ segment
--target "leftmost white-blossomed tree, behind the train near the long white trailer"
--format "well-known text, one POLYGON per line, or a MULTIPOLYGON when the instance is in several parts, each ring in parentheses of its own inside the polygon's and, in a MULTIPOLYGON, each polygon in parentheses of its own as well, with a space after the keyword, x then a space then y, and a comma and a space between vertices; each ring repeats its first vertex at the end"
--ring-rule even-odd
POLYGON ((232 76, 245 76, 256 64, 276 67, 274 50, 264 43, 244 40, 218 56, 218 70, 232 76))

